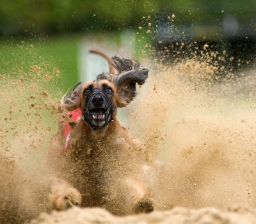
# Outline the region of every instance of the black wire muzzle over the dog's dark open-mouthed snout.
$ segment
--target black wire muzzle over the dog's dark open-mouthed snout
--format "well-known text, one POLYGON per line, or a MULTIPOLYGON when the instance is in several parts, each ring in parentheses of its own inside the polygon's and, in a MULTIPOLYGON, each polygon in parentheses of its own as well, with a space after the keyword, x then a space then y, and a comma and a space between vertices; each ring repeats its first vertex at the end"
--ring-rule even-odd
POLYGON ((84 121, 93 130, 101 129, 113 120, 113 104, 108 95, 98 86, 88 93, 85 105, 84 121))

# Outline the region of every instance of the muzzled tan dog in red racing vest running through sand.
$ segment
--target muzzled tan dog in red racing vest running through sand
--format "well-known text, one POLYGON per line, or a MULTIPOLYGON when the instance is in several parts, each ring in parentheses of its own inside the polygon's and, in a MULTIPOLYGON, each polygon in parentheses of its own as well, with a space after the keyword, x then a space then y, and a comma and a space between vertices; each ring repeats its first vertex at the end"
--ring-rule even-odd
POLYGON ((50 210, 99 206, 118 215, 151 212, 154 203, 141 171, 151 163, 150 155, 116 118, 117 109, 136 96, 136 84, 145 83, 148 68, 129 58, 91 52, 108 60, 109 72, 78 83, 61 100, 67 112, 49 151, 55 170, 50 210))

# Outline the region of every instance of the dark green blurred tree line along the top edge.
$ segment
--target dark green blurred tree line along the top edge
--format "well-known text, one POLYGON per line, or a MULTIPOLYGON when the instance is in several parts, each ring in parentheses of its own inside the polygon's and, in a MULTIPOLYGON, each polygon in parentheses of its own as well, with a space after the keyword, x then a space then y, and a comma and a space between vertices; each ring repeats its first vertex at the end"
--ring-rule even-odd
POLYGON ((172 13, 182 22, 207 22, 205 18, 218 19, 223 12, 244 16, 255 11, 255 0, 1 0, 0 35, 134 28, 143 16, 153 19, 172 13))

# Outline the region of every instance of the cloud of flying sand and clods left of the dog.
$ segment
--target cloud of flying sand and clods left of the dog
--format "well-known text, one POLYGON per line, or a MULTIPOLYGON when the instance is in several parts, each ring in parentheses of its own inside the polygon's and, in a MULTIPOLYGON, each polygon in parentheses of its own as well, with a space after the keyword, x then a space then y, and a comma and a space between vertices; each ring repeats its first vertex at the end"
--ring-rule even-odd
POLYGON ((21 62, 12 61, 13 67, 8 67, 11 61, 3 58, 0 68, 1 223, 22 223, 44 211, 38 191, 44 176, 38 174, 56 132, 56 102, 61 97, 60 71, 30 45, 20 47, 24 49, 23 61, 17 54, 21 62))

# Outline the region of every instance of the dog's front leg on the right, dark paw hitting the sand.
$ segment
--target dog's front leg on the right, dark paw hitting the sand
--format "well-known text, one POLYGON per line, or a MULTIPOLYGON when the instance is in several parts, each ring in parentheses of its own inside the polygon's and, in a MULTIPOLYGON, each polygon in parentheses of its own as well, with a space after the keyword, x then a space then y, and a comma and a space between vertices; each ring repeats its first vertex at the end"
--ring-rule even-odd
POLYGON ((127 200, 131 202, 132 213, 147 213, 154 211, 154 205, 150 199, 150 192, 143 184, 134 179, 125 179, 129 189, 127 200))

